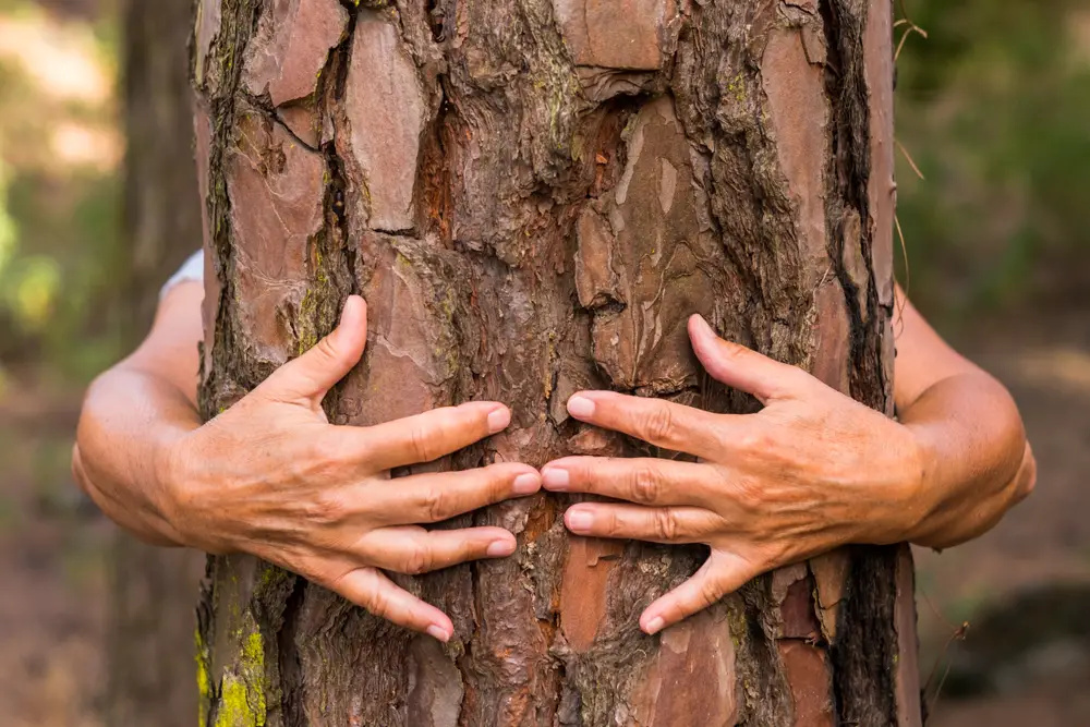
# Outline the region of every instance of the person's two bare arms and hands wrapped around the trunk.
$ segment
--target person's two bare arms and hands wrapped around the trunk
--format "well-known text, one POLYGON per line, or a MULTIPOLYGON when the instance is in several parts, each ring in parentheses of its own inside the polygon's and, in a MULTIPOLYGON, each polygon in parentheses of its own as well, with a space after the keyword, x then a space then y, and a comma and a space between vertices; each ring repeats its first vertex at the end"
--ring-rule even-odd
MULTIPOLYGON (((449 638, 449 618, 380 569, 483 558, 497 542, 510 552, 514 540, 502 529, 428 533, 417 523, 447 514, 448 505, 467 512, 522 496, 516 477, 536 472, 506 463, 412 475, 392 489, 389 469, 419 459, 410 453, 415 433, 434 433, 429 453, 446 453, 499 431, 486 420, 506 408, 476 402, 376 427, 330 425, 322 398, 359 360, 366 335, 363 303, 350 299, 334 334, 202 425, 202 298, 199 284, 171 289, 147 340, 92 385, 73 451, 76 482, 149 542, 257 555, 398 623, 449 638), (441 513, 427 507, 437 501, 441 513)), ((695 319, 689 332, 707 373, 754 393, 764 410, 719 415, 615 392, 569 399, 577 420, 698 457, 568 458, 543 469, 547 489, 643 502, 573 506, 569 526, 577 512, 592 516, 579 534, 711 546, 693 579, 644 611, 645 630, 690 616, 761 572, 847 543, 950 547, 985 532, 1032 490, 1036 464, 1010 396, 907 301, 898 303, 900 422, 801 369, 718 340, 695 319), (653 486, 634 485, 637 477, 649 482, 647 468, 661 468, 653 486), (559 471, 568 475, 562 484, 559 471)), ((509 415, 500 419, 506 427, 509 415)))

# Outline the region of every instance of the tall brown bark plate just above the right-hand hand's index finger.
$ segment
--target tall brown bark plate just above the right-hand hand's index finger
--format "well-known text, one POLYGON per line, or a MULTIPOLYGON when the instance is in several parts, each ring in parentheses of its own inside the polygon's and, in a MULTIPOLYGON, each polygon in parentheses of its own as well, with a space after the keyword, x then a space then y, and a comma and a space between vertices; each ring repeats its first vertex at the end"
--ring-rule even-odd
POLYGON ((594 319, 594 359, 613 384, 678 391, 695 383, 686 323, 714 310, 722 249, 670 99, 645 106, 631 130, 620 181, 580 219, 577 287, 589 307, 625 304, 594 319))

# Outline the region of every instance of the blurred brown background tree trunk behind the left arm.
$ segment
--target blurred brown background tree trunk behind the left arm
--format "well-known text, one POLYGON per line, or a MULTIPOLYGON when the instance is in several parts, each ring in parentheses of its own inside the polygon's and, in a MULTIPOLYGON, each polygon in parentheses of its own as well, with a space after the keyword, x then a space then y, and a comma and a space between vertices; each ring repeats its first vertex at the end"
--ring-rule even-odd
MULTIPOLYGON (((186 40, 190 0, 125 7, 125 229, 119 280, 130 346, 152 323, 159 287, 201 241, 186 40)), ((119 533, 112 558, 106 724, 192 727, 193 599, 204 558, 119 533)))

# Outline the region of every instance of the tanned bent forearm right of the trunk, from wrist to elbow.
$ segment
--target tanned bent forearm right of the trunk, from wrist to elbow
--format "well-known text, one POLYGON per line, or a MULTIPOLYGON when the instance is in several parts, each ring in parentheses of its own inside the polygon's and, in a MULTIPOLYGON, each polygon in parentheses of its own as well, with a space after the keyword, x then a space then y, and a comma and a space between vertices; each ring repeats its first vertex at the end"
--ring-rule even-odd
POLYGON ((979 537, 1032 489, 1036 464, 1018 409, 988 374, 935 383, 900 419, 922 460, 906 540, 943 549, 979 537))

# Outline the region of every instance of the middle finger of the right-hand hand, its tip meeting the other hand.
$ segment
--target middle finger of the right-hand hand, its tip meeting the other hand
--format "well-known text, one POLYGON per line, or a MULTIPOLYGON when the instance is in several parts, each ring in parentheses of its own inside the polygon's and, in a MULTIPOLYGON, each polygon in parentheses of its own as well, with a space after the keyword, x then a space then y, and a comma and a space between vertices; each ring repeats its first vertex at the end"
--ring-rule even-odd
POLYGON ((714 467, 662 459, 568 457, 542 470, 545 489, 586 493, 637 505, 697 505, 714 508, 723 499, 714 467))

